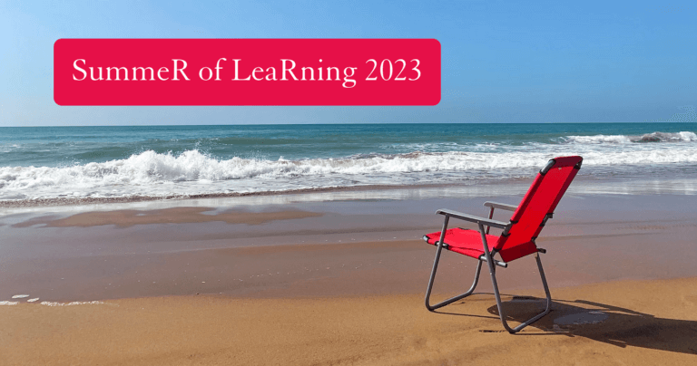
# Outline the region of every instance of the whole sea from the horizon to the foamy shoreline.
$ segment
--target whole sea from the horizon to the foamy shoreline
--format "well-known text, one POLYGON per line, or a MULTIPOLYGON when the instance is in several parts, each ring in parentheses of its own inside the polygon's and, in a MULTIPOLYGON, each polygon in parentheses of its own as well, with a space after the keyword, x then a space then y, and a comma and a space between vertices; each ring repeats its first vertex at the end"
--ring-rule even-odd
POLYGON ((531 179, 565 155, 584 157, 586 181, 697 182, 695 131, 665 122, 5 127, 0 201, 482 185, 531 179))

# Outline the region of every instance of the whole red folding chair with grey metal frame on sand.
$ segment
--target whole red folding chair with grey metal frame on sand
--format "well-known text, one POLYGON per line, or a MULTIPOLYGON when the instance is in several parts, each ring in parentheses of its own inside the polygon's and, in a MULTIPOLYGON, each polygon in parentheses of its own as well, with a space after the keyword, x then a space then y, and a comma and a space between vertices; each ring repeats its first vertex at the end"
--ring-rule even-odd
POLYGON ((511 333, 519 332, 527 325, 535 323, 549 313, 552 305, 552 295, 549 294, 545 271, 542 269, 542 262, 540 262, 539 255, 540 253, 546 253, 546 250, 537 247, 535 239, 540 234, 540 231, 542 231, 547 220, 552 218, 556 205, 559 203, 559 200, 562 199, 562 196, 564 196, 566 188, 568 188, 571 181, 574 180, 578 169, 581 169, 582 161, 583 158, 575 156, 549 160, 545 168, 540 170, 539 174, 537 174, 535 181, 533 181, 533 185, 530 186, 527 193, 525 193, 525 197, 523 197, 520 205, 511 206, 496 202, 486 202, 484 206, 490 207, 488 218, 466 215, 449 209, 437 210, 436 214, 445 216, 443 229, 440 232, 424 236, 424 240, 428 244, 437 246, 436 259, 433 262, 433 270, 431 270, 431 277, 428 279, 428 288, 426 291, 427 309, 429 311, 434 311, 439 307, 445 306, 448 303, 454 303, 472 294, 479 281, 482 262, 486 262, 489 266, 491 282, 494 285, 498 315, 501 318, 501 323, 504 323, 506 331, 511 333), (514 211, 513 216, 507 223, 496 221, 492 219, 495 208, 514 211), (450 217, 476 223, 476 225, 479 226, 479 230, 468 230, 460 227, 448 230, 447 224, 450 217), (491 227, 503 229, 501 236, 489 235, 489 229, 491 227), (440 253, 443 248, 479 260, 476 265, 475 281, 465 294, 459 294, 441 303, 431 305, 431 290, 433 288, 433 281, 436 278, 438 260, 440 259, 440 253), (496 254, 501 256, 501 260, 494 259, 496 254), (506 322, 506 314, 501 306, 501 294, 499 294, 498 285, 496 284, 496 265, 506 268, 509 262, 532 254, 535 254, 537 268, 540 270, 542 284, 545 286, 545 294, 547 294, 546 309, 544 312, 535 315, 515 328, 511 328, 506 322))

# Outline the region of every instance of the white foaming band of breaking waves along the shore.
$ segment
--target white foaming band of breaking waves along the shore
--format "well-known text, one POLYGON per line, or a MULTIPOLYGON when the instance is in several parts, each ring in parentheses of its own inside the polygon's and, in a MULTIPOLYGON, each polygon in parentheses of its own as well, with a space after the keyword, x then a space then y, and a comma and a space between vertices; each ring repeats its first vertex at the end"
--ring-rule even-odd
POLYGON ((428 152, 431 148, 423 145, 418 148, 427 151, 292 160, 216 159, 197 149, 178 155, 149 150, 127 159, 67 167, 0 167, 0 200, 463 183, 468 179, 529 177, 547 159, 564 155, 581 155, 584 167, 597 168, 584 169, 581 174, 602 169, 643 174, 650 171, 646 169, 697 163, 695 141, 697 135, 691 131, 568 136, 563 143, 476 144, 468 150, 455 144, 448 152, 428 152))

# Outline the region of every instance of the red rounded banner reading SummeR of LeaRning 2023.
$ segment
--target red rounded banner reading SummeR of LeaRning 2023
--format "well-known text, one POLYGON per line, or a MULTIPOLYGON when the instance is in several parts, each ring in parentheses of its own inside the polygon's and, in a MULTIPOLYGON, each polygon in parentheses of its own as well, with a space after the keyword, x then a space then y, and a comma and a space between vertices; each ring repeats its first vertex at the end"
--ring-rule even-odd
POLYGON ((60 39, 59 105, 436 105, 435 39, 60 39))

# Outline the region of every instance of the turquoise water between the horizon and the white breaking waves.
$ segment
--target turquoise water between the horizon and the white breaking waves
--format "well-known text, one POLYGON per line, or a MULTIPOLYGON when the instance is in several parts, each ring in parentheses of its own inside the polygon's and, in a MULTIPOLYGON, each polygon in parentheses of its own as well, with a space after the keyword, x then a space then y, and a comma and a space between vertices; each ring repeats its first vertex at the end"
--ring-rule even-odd
POLYGON ((358 124, 0 128, 0 166, 126 159, 152 150, 197 149, 215 159, 345 158, 416 150, 482 150, 482 144, 563 144, 568 136, 641 136, 697 131, 696 123, 358 124))

